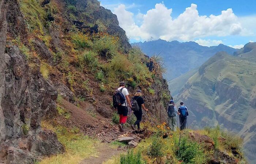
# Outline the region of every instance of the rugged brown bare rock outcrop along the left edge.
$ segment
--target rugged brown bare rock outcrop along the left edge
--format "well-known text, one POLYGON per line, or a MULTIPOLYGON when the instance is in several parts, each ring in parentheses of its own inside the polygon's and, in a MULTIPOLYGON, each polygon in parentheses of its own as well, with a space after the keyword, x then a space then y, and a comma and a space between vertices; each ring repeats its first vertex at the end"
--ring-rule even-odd
POLYGON ((16 0, 0 1, 0 162, 33 163, 38 156, 63 152, 56 134, 40 128, 41 118, 56 111, 57 91, 39 68, 31 69, 7 33, 27 33, 16 0))

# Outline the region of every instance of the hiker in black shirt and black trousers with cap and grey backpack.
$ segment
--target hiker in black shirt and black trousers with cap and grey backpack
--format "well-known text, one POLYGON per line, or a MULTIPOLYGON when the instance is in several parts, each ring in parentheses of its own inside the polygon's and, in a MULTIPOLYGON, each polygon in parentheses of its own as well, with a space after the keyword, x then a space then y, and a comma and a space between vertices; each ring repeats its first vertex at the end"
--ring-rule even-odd
POLYGON ((148 109, 146 109, 145 105, 144 105, 144 100, 141 97, 142 95, 142 91, 141 90, 137 90, 136 94, 133 97, 133 100, 136 100, 138 105, 139 105, 139 110, 138 111, 134 111, 133 114, 136 116, 137 120, 135 121, 135 123, 133 125, 131 125, 131 128, 133 130, 135 130, 135 126, 138 126, 138 130, 140 130, 140 121, 142 120, 142 108, 145 111, 148 111, 148 109))

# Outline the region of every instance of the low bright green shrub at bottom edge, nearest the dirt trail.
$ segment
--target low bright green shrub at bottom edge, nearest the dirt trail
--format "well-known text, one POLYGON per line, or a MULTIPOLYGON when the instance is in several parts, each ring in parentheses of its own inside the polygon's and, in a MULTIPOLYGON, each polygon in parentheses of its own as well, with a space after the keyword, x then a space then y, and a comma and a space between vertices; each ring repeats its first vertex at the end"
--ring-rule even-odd
POLYGON ((141 152, 134 153, 133 149, 130 149, 127 155, 120 156, 120 164, 146 164, 146 162, 142 159, 141 152))

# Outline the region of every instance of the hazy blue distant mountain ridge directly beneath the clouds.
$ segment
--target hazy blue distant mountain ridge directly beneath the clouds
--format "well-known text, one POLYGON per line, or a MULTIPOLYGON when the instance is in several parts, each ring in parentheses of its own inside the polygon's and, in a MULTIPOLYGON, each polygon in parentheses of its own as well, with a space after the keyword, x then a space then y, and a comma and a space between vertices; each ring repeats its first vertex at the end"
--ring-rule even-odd
POLYGON ((237 51, 236 49, 223 44, 219 44, 219 46, 205 47, 200 46, 195 42, 166 42, 161 39, 144 43, 134 43, 132 46, 139 46, 148 56, 152 56, 154 53, 160 53, 161 56, 163 56, 164 63, 167 67, 167 74, 165 75, 167 80, 179 77, 180 75, 199 67, 219 51, 225 51, 231 55, 233 52, 237 51))

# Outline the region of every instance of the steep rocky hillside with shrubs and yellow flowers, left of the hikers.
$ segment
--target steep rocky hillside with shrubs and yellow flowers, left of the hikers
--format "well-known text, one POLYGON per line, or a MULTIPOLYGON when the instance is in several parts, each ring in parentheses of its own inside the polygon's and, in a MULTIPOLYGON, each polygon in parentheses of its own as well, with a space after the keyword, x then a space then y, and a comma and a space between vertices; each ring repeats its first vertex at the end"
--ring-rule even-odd
POLYGON ((131 94, 143 91, 147 117, 166 120, 166 80, 97 0, 0 0, 0 8, 0 163, 71 153, 79 139, 87 146, 84 134, 112 141, 120 134, 106 128, 116 127, 111 102, 120 81, 131 94))

